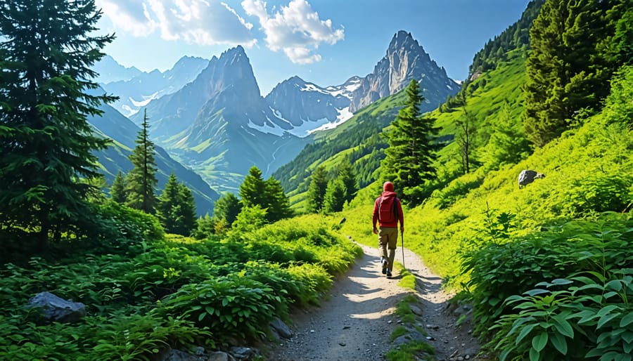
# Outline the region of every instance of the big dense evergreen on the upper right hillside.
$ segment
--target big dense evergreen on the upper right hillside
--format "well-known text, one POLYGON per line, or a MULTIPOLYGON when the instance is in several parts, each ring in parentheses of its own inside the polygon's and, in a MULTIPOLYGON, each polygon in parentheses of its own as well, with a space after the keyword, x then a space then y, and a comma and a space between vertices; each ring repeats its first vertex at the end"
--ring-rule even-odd
POLYGON ((595 109, 608 95, 608 81, 623 63, 603 41, 613 38, 630 8, 618 3, 548 0, 542 6, 530 29, 523 117, 535 145, 560 136, 577 112, 595 109))

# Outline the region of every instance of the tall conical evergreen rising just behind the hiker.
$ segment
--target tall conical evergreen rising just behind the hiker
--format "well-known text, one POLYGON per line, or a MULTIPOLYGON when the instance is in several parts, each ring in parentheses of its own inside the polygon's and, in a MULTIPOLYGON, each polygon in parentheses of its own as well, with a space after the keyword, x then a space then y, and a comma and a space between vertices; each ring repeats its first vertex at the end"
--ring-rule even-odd
POLYGON ((424 186, 435 176, 437 129, 435 119, 424 117, 420 111, 424 98, 418 81, 411 80, 406 93, 404 107, 385 134, 389 147, 381 168, 383 180, 391 180, 402 190, 402 199, 414 205, 422 201, 424 186))

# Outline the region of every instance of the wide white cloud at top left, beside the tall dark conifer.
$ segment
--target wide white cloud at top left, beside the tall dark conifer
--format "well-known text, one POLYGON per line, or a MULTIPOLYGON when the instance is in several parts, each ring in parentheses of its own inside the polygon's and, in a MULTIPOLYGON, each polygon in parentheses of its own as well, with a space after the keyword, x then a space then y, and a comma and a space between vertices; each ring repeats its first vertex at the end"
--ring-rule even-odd
POLYGON ((218 0, 97 0, 97 6, 117 31, 135 37, 160 32, 162 39, 198 45, 250 47, 257 42, 252 24, 218 0))

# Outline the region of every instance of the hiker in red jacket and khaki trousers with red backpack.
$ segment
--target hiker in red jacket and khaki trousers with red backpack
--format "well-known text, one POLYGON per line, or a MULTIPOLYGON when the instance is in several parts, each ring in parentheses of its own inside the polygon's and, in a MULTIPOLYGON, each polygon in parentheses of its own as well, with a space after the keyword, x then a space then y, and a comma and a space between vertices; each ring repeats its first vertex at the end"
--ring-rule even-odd
POLYGON ((381 256, 381 267, 383 275, 391 277, 393 270, 393 260, 398 243, 398 222, 400 222, 400 232, 404 232, 404 214, 400 199, 393 191, 393 183, 383 184, 383 194, 376 198, 373 204, 373 234, 378 234, 378 253, 381 256), (378 232, 376 221, 381 228, 378 232), (389 249, 389 254, 387 254, 389 249))

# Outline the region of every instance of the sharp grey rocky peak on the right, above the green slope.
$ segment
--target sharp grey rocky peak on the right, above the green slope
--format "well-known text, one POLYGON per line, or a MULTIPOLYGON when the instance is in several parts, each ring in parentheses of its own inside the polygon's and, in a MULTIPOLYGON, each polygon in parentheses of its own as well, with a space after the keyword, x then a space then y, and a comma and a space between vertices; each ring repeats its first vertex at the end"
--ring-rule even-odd
POLYGON ((447 76, 443 67, 431 60, 411 33, 401 30, 392 38, 387 54, 371 74, 361 79, 352 93, 350 112, 401 91, 411 79, 421 80, 426 104, 423 111, 435 109, 445 102, 448 95, 454 95, 459 90, 459 84, 447 76))

